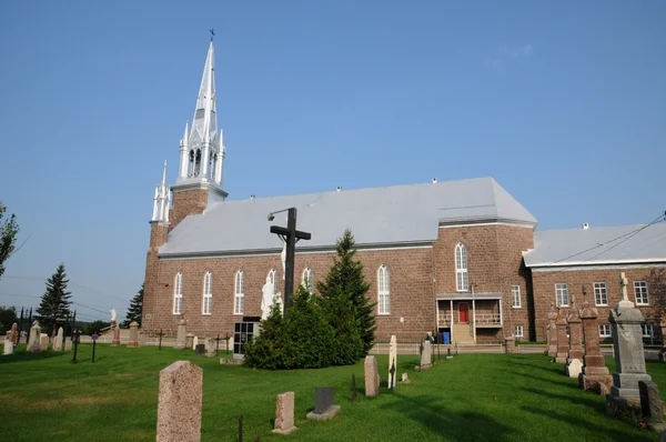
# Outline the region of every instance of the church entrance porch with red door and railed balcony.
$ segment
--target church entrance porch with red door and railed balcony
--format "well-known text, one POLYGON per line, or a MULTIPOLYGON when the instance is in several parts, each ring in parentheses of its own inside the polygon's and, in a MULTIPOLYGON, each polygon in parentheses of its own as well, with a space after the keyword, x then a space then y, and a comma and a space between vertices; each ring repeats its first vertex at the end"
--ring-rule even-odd
POLYGON ((504 324, 501 293, 440 294, 436 308, 442 342, 473 345, 480 330, 502 329, 504 324))

